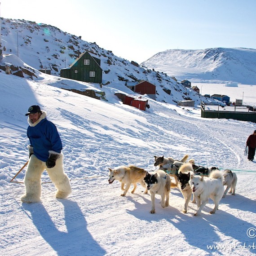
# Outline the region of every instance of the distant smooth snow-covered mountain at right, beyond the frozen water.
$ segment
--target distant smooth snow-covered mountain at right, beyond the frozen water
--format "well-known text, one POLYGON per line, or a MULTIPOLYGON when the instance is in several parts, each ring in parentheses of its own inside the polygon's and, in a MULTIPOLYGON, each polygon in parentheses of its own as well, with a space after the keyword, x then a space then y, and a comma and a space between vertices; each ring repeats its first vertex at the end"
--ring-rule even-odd
POLYGON ((166 50, 141 65, 194 83, 256 83, 256 49, 166 50))

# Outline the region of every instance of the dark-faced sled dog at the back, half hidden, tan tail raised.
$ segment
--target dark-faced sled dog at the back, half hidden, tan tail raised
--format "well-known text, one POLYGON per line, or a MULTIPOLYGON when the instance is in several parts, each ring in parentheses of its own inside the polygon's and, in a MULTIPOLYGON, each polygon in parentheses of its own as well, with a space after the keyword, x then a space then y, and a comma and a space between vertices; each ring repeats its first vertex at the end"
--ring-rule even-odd
POLYGON ((170 176, 174 177, 176 184, 178 185, 178 179, 176 173, 179 168, 188 159, 189 155, 185 154, 181 160, 175 160, 172 157, 155 156, 154 166, 158 166, 160 170, 167 172, 170 176))

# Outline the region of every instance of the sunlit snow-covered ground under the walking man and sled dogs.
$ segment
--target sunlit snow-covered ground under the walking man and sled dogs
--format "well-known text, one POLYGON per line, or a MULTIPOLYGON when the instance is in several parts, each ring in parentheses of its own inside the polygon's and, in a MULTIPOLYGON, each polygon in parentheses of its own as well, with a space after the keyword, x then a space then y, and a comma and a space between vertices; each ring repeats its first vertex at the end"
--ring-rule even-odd
MULTIPOLYGON (((256 254, 256 163, 243 155, 256 124, 202 119, 197 106, 153 100, 144 112, 123 105, 110 91, 108 101, 100 101, 58 88, 56 77, 56 87, 49 86, 50 76, 40 78, 0 72, 0 255, 256 254), (10 183, 28 159, 25 113, 34 104, 47 112, 62 138, 72 186, 66 200, 54 197, 46 172, 41 203, 22 203, 24 184, 10 183), (221 199, 216 214, 209 213, 211 200, 201 216, 194 216, 191 202, 182 213, 177 188, 171 190, 169 207, 162 208, 157 196, 156 213, 150 214, 150 194, 143 194, 141 185, 121 197, 120 183, 108 184, 108 168, 134 164, 150 171, 156 169, 154 155, 179 159, 184 154, 197 164, 237 174, 236 195, 221 199)), ((243 88, 244 102, 254 106, 252 88, 243 88)), ((203 86, 203 94, 207 89, 203 86)), ((22 182, 25 171, 15 181, 22 182)))

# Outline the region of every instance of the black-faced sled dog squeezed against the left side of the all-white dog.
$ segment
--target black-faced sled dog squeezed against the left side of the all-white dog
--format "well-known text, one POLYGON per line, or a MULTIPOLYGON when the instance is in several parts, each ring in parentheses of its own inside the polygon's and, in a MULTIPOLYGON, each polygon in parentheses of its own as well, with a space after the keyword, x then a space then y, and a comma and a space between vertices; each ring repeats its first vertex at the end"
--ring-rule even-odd
MULTIPOLYGON (((181 191, 181 194, 184 197, 184 209, 182 212, 187 213, 188 211, 188 204, 191 199, 192 195, 192 189, 190 187, 189 181, 190 181, 190 175, 194 174, 193 167, 191 163, 184 163, 181 165, 181 168, 179 169, 179 173, 176 174, 178 181, 179 181, 179 189, 181 191)), ((195 203, 194 199, 192 203, 195 203)))

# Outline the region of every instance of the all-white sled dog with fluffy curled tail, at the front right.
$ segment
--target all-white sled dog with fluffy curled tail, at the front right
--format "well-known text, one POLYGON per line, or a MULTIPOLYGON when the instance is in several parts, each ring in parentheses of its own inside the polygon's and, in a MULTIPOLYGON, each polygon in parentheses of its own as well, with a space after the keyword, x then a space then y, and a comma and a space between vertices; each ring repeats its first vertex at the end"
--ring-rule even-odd
POLYGON ((220 170, 212 171, 209 177, 201 177, 193 174, 190 176, 189 183, 198 206, 198 210, 194 216, 200 215, 209 198, 215 203, 210 213, 213 214, 216 212, 224 193, 223 180, 223 173, 220 170))

